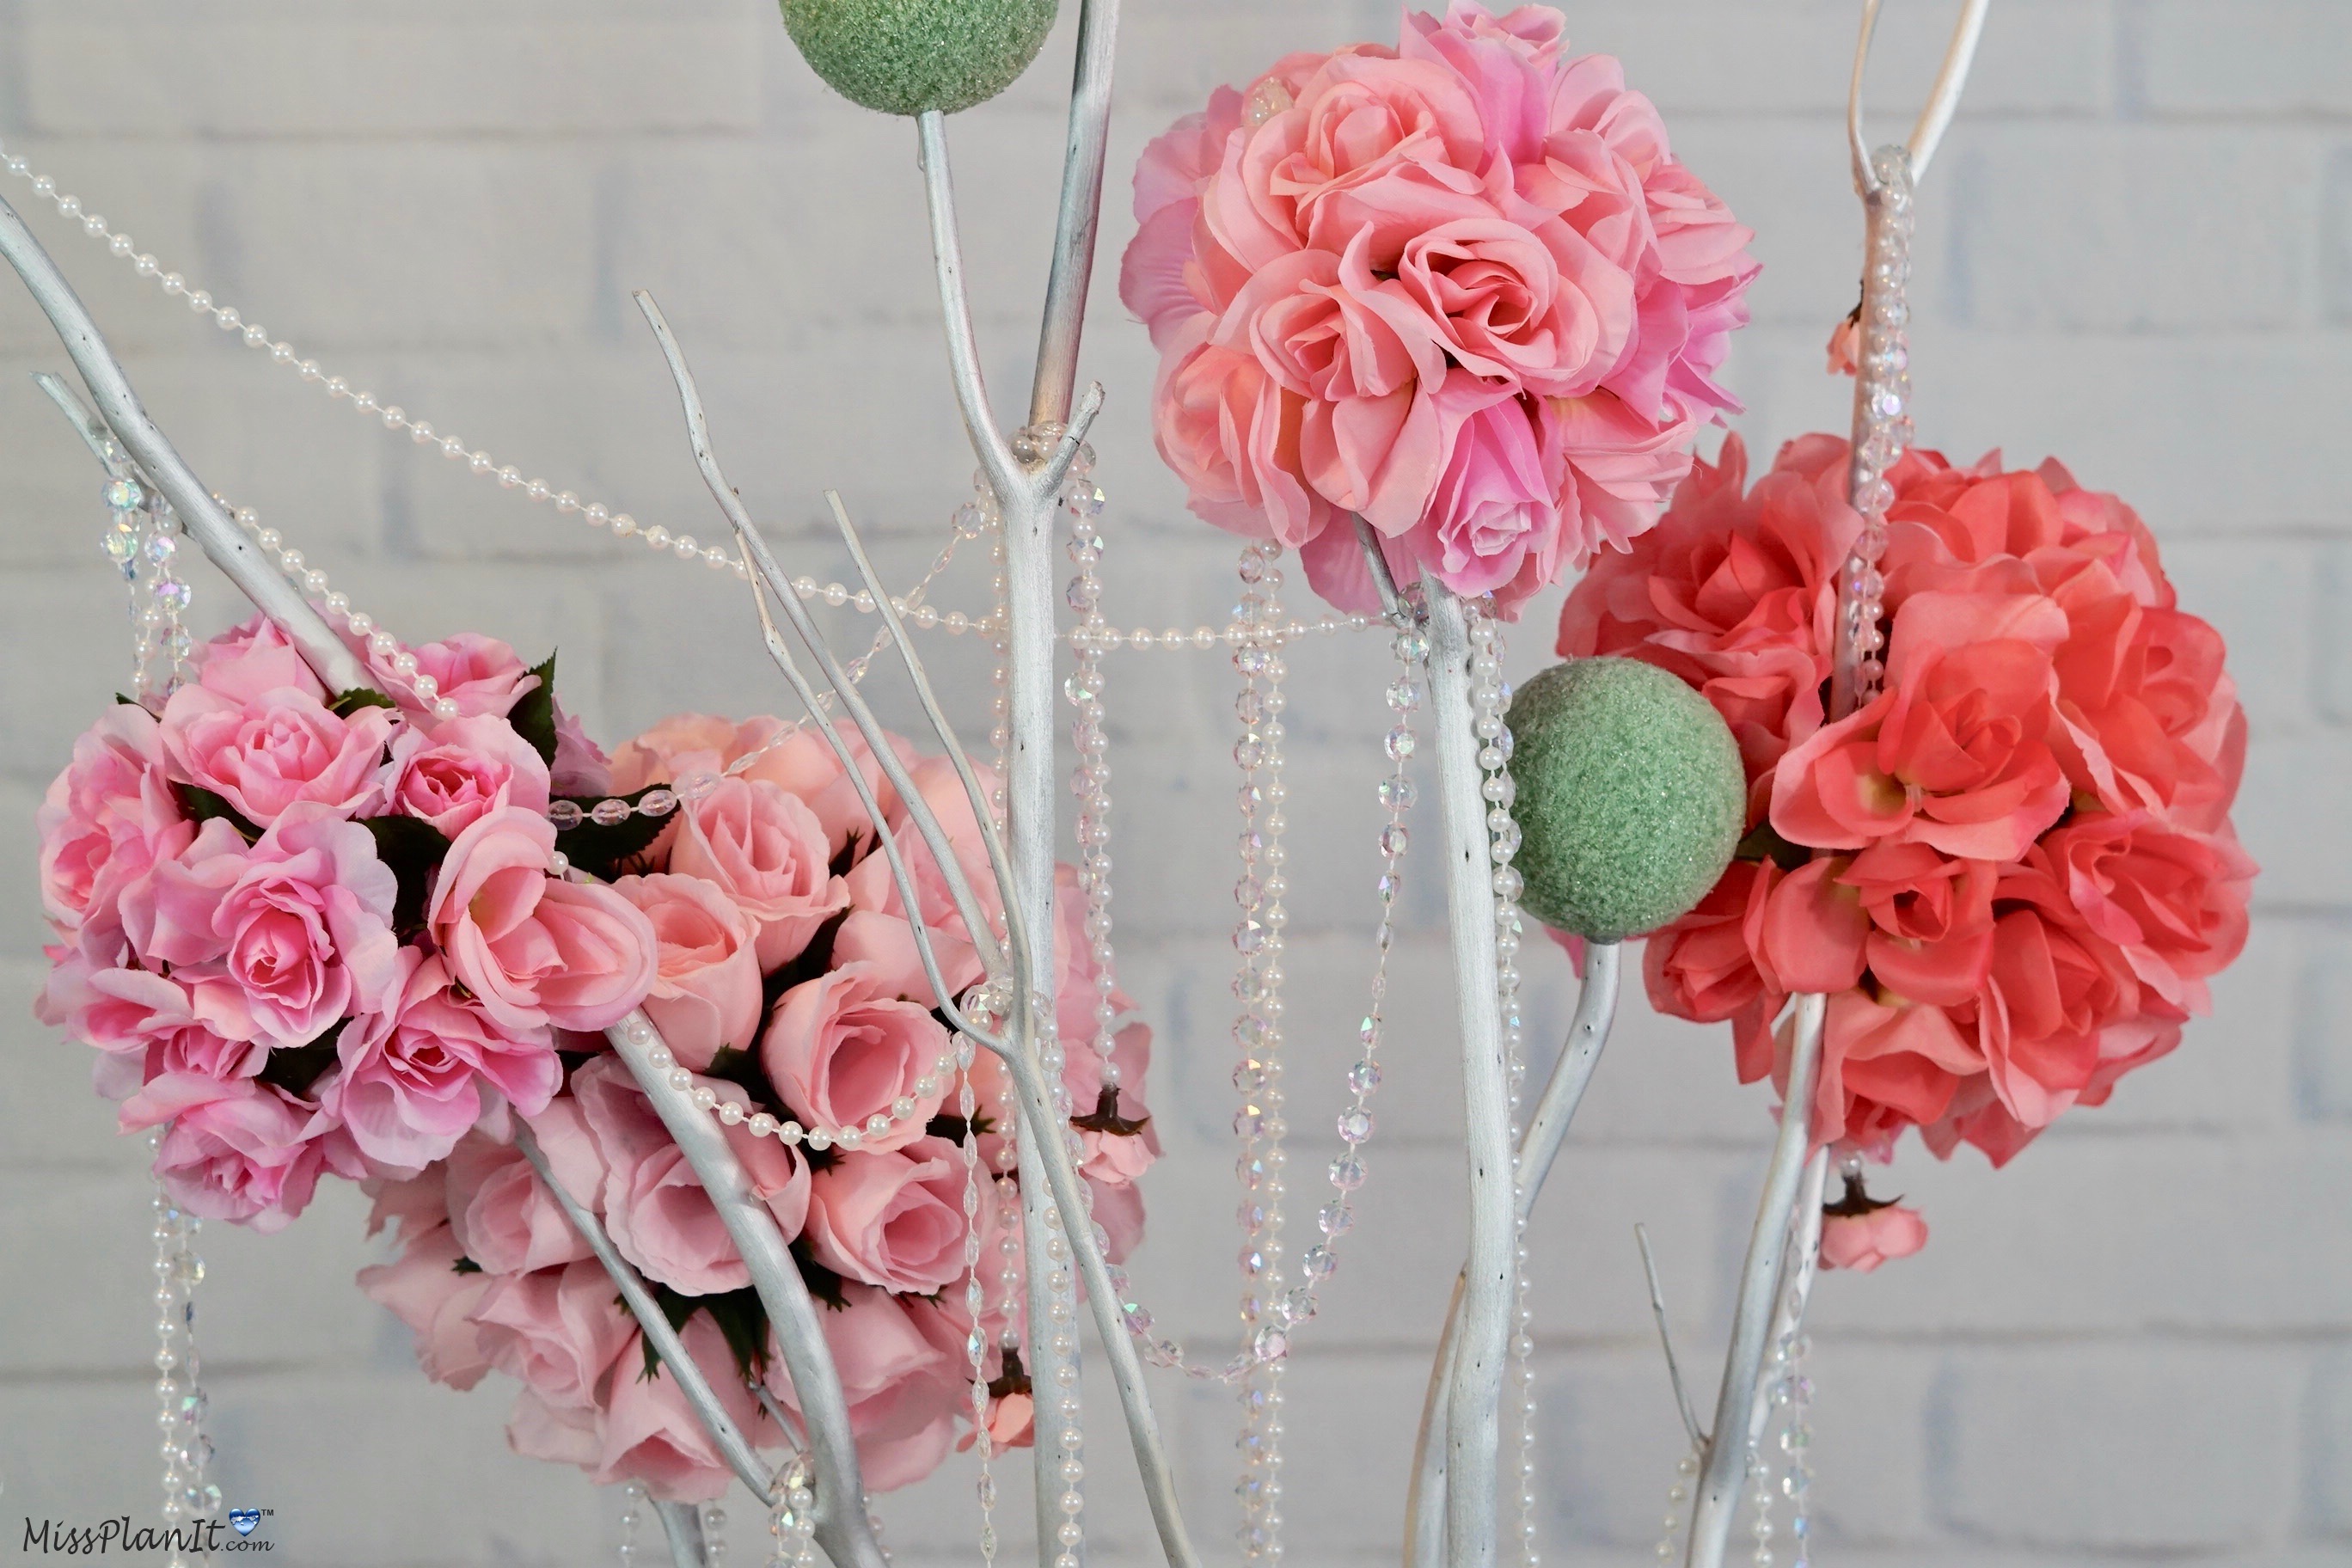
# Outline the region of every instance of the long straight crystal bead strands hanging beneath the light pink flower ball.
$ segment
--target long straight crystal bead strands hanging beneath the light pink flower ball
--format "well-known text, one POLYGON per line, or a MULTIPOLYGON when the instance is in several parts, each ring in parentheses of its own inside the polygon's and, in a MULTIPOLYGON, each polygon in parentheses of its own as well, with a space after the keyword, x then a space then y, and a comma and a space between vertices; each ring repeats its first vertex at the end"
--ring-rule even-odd
POLYGON ((1289 1333, 1277 1312, 1282 1295, 1282 926, 1284 785, 1282 785, 1282 548, 1242 550, 1237 625, 1254 630, 1232 656, 1242 675, 1235 717, 1242 736, 1232 762, 1242 769, 1242 879, 1232 889, 1240 922, 1232 994, 1242 1004, 1232 1023, 1240 1063, 1232 1086, 1242 1105, 1232 1117, 1242 1152, 1242 1333, 1249 1338, 1249 1371, 1242 1373, 1242 1552, 1256 1563, 1282 1561, 1282 1352, 1289 1333))

